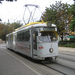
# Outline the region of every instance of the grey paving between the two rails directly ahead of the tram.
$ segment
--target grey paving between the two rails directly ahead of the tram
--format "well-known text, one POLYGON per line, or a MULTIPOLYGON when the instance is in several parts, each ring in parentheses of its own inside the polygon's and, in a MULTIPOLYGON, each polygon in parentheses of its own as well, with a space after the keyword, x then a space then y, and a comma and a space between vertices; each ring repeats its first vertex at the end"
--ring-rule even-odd
POLYGON ((69 66, 63 65, 59 62, 52 62, 50 64, 43 64, 44 66, 61 73, 62 75, 74 75, 75 69, 69 66))

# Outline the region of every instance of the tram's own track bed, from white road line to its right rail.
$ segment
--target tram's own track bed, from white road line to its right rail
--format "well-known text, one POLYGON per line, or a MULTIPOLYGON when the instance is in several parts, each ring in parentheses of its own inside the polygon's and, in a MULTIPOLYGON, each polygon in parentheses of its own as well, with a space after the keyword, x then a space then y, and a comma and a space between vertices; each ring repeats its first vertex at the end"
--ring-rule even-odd
POLYGON ((62 60, 63 57, 58 58, 58 62, 50 62, 49 64, 41 64, 37 61, 32 61, 32 59, 30 58, 29 59, 26 58, 27 60, 25 58, 26 57, 22 55, 21 57, 19 57, 19 59, 21 59, 23 62, 28 64, 30 67, 32 67, 33 69, 41 73, 41 75, 55 75, 55 74, 57 75, 75 75, 75 72, 74 72, 75 68, 62 64, 64 61, 62 63, 59 62, 59 60, 60 59, 62 60), (69 71, 69 73, 67 73, 67 71, 69 71), (54 74, 54 72, 56 73, 54 74))

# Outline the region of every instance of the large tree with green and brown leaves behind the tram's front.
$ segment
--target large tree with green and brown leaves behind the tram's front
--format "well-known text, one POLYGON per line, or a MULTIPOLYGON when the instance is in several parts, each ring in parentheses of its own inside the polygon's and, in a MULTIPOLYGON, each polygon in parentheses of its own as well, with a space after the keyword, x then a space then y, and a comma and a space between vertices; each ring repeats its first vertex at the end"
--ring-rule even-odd
POLYGON ((50 21, 51 23, 56 24, 58 33, 62 35, 62 40, 63 33, 67 32, 67 24, 71 20, 69 20, 71 17, 71 14, 68 12, 69 7, 70 6, 68 4, 61 3, 61 1, 56 1, 55 5, 52 4, 49 8, 45 9, 42 16, 44 21, 50 21))

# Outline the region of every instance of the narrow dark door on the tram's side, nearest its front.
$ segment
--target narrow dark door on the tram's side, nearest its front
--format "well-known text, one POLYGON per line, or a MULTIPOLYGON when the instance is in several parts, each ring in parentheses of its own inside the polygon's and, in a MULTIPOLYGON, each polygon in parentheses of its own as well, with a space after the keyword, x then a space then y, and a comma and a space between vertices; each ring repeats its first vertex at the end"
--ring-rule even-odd
POLYGON ((37 56, 37 36, 38 31, 32 31, 32 57, 37 56))

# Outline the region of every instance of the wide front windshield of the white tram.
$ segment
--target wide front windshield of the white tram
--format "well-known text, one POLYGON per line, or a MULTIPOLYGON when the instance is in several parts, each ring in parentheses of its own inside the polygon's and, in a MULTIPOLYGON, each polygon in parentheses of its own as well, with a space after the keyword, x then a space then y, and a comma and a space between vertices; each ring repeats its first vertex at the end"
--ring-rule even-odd
POLYGON ((57 33, 56 32, 41 32, 39 36, 39 40, 43 42, 57 41, 57 33))

